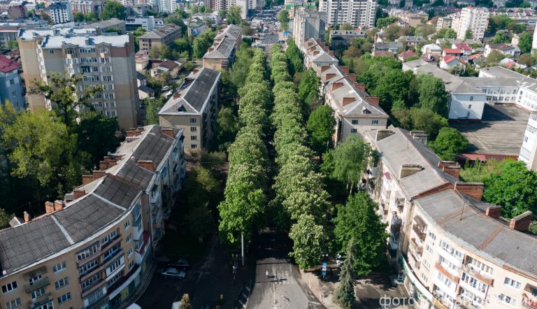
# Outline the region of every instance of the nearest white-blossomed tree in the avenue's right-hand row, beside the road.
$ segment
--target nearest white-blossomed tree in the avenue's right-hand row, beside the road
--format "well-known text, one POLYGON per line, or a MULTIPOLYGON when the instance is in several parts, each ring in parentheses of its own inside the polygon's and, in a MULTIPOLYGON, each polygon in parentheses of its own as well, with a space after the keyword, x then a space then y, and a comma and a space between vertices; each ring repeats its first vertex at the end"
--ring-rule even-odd
POLYGON ((293 240, 293 251, 289 253, 300 268, 313 268, 319 264, 327 243, 327 232, 315 222, 313 215, 301 215, 293 224, 289 237, 293 240))

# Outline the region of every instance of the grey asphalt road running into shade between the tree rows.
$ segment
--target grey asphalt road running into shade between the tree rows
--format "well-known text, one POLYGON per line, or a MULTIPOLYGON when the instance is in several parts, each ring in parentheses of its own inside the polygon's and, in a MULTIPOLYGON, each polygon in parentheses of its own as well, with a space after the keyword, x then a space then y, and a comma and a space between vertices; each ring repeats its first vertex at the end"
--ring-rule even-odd
POLYGON ((273 231, 265 231, 259 235, 257 243, 255 285, 248 299, 247 309, 324 308, 300 282, 298 267, 288 259, 287 252, 290 247, 287 237, 273 231))

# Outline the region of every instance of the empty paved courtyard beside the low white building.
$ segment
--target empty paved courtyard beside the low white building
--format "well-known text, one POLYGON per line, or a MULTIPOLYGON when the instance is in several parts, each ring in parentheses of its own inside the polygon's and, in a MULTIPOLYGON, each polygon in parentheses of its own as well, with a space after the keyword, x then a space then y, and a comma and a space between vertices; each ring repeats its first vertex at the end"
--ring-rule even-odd
POLYGON ((481 122, 452 122, 468 139, 469 153, 515 155, 520 152, 529 112, 516 106, 485 104, 481 122))

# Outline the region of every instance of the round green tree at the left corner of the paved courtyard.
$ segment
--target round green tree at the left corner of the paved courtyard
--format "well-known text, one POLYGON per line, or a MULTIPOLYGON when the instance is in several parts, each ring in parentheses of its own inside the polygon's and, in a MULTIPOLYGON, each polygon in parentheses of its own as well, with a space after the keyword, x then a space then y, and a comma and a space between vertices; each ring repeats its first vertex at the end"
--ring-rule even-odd
POLYGON ((429 143, 429 148, 436 152, 438 157, 447 161, 456 160, 457 155, 466 151, 467 147, 468 140, 457 129, 450 127, 440 129, 436 140, 429 143))

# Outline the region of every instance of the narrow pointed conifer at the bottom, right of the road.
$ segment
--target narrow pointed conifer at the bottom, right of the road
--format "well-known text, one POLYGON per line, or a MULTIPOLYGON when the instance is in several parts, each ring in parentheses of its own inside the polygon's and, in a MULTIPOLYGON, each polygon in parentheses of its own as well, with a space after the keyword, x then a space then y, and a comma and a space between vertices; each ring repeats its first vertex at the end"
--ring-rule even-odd
POLYGON ((341 272, 339 273, 339 285, 334 291, 334 300, 339 303, 343 308, 350 309, 352 304, 355 303, 355 282, 354 282, 354 269, 355 264, 355 240, 351 238, 347 246, 347 254, 343 260, 341 266, 341 272))

